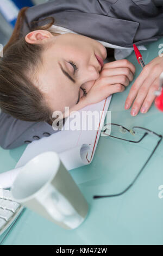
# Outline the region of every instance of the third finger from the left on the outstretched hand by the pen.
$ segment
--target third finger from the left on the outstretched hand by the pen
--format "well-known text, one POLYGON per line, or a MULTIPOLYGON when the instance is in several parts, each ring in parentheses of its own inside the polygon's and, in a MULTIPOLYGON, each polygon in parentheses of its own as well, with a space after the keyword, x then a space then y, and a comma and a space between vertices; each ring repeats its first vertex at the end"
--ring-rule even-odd
POLYGON ((143 101, 143 105, 140 109, 141 113, 147 113, 149 108, 151 107, 154 99, 155 99, 155 94, 154 92, 158 90, 159 88, 159 78, 157 78, 151 88, 149 88, 148 94, 146 99, 143 101))

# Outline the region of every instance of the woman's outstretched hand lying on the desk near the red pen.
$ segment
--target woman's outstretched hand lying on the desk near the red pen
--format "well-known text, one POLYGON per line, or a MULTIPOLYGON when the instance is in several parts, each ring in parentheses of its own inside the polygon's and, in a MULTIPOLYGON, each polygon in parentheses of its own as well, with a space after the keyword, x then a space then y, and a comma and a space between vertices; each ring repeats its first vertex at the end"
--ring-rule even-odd
POLYGON ((163 71, 163 58, 156 57, 143 68, 141 74, 135 80, 125 102, 125 108, 130 108, 131 115, 146 113, 155 99, 154 92, 159 88, 159 76, 163 71))

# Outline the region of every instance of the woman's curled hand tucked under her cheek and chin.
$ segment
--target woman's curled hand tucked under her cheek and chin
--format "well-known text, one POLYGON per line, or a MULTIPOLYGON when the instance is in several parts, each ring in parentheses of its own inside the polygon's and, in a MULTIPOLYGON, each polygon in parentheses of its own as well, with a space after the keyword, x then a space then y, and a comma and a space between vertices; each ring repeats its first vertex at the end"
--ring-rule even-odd
POLYGON ((123 92, 133 80, 135 66, 127 59, 104 64, 99 78, 87 92, 83 102, 86 105, 104 100, 110 94, 123 92))

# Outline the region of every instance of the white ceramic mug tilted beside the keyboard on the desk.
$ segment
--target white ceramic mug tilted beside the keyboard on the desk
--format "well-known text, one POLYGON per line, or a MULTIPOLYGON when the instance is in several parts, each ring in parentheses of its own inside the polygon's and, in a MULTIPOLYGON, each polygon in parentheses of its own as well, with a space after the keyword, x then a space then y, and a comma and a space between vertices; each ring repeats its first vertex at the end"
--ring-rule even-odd
POLYGON ((35 156, 20 168, 12 198, 65 229, 83 223, 88 204, 57 153, 35 156))

